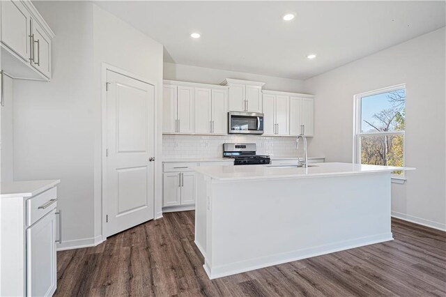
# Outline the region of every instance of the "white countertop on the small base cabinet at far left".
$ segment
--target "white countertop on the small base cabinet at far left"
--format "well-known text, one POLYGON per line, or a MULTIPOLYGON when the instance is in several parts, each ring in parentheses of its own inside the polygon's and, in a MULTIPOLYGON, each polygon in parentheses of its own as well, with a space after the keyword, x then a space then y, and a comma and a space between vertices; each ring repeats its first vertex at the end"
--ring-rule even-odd
POLYGON ((0 198, 32 197, 60 183, 60 179, 46 181, 11 181, 0 183, 0 198))

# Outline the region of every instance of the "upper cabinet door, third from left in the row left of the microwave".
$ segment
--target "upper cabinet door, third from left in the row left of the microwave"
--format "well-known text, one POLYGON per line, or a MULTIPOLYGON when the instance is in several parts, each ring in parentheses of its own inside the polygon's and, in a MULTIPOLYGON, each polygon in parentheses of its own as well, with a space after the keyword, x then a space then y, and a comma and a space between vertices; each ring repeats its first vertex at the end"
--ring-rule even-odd
POLYGON ((195 88, 195 133, 212 132, 211 90, 195 88))

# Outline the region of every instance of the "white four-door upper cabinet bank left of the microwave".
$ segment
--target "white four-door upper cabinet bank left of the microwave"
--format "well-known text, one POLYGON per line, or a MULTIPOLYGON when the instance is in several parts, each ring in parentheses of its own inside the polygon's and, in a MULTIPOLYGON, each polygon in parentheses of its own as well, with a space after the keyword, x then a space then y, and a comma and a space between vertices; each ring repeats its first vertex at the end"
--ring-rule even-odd
POLYGON ((164 134, 226 134, 227 87, 164 81, 164 134))

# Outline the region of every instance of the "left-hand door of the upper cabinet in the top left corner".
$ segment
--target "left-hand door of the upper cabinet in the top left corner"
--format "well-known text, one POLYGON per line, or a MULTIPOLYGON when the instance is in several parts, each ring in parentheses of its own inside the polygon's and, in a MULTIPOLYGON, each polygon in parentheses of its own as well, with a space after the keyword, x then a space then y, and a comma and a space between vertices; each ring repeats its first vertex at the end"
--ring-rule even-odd
POLYGON ((0 1, 1 43, 29 63, 31 14, 20 1, 0 1))

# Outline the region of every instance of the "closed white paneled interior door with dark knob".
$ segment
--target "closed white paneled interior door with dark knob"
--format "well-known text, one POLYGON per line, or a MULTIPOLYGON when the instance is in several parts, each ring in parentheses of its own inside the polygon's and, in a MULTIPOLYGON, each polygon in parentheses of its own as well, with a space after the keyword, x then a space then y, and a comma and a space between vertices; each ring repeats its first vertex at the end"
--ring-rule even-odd
POLYGON ((107 71, 107 212, 110 236, 153 219, 155 87, 107 71))

